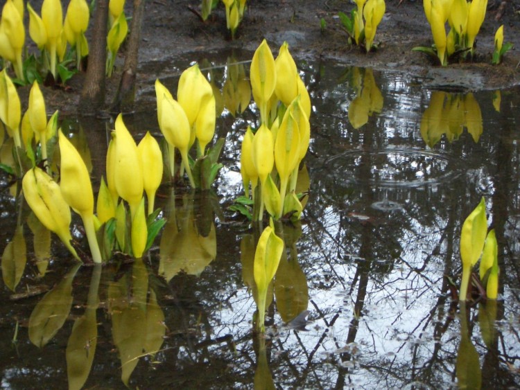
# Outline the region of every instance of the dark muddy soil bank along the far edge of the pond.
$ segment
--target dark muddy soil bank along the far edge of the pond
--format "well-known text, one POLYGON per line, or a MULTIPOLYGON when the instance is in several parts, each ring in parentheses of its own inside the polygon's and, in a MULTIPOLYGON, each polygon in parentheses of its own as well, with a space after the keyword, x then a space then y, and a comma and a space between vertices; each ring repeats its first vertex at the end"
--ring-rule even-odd
MULTIPOLYGON (((449 89, 503 89, 519 83, 520 9, 519 0, 492 3, 489 0, 485 22, 476 42, 476 58, 472 62, 440 67, 424 53, 412 51, 415 46, 433 43, 431 29, 424 16, 422 1, 387 0, 386 12, 376 33, 379 49, 362 53, 349 46, 338 12, 349 13, 355 6, 345 0, 250 0, 244 19, 234 40, 230 39, 225 23, 225 8, 219 3, 209 20, 198 16, 199 0, 148 0, 142 26, 142 46, 139 53, 141 74, 137 83, 148 83, 146 65, 150 62, 173 61, 177 57, 200 59, 201 52, 215 53, 229 48, 254 51, 265 37, 276 56, 279 46, 288 41, 291 53, 299 59, 334 60, 359 67, 400 71, 418 78, 426 87, 449 89), (499 18, 499 20, 496 20, 499 18), (320 27, 324 19, 326 28, 320 27), (512 42, 499 66, 491 65, 494 33, 504 24, 505 42, 512 42)), ((131 15, 131 0, 127 1, 127 15, 131 15)), ((119 58, 122 66, 124 52, 119 58)), ((107 105, 117 87, 120 73, 116 72, 107 85, 107 105)), ((77 102, 82 77, 71 82, 67 105, 77 102)), ((63 96, 56 92, 55 103, 61 105, 63 96)), ((46 96, 53 100, 52 96, 46 96)), ((139 100, 139 96, 137 97, 139 100)), ((63 109, 63 107, 60 107, 63 109)))

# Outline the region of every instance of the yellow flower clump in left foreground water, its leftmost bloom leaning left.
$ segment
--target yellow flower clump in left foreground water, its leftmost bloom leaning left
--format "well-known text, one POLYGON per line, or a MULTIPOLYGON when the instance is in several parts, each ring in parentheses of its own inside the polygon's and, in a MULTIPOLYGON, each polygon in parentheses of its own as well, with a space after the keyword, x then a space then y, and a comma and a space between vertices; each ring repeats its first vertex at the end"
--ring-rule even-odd
MULTIPOLYGON (((37 84, 35 84, 37 86, 37 84)), ((162 181, 162 153, 159 144, 148 132, 139 146, 117 117, 107 151, 107 184, 102 181, 94 215, 94 195, 85 161, 62 131, 59 132, 60 183, 56 183, 41 168, 28 170, 22 180, 24 197, 44 226, 60 237, 77 259, 71 246, 71 211, 80 215, 94 263, 101 263, 102 254, 96 230, 112 218, 116 219, 116 238, 119 248, 127 247, 126 217, 123 202, 128 202, 132 229, 132 254, 140 258, 147 245, 148 228, 144 211, 144 191, 148 198, 148 214, 153 212, 155 191, 162 181), (146 175, 143 174, 146 170, 146 175), (119 202, 119 205, 118 205, 119 202), (121 232, 121 234, 118 234, 121 232)))

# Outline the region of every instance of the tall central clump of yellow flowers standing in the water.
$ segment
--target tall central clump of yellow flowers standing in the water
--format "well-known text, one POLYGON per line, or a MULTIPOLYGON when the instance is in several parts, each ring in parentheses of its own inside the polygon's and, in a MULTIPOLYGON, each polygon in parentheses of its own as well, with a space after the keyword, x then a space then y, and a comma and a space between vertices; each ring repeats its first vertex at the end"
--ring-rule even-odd
POLYGON ((309 148, 311 99, 288 44, 281 45, 275 60, 264 39, 254 52, 250 79, 261 124, 254 135, 250 128, 245 132, 241 174, 246 195, 250 184, 252 186, 254 201, 260 184, 259 202, 255 202, 259 206, 253 219, 261 220, 264 206, 275 218, 293 213, 299 219, 302 204, 295 188, 300 162, 309 148), (275 184, 276 176, 272 174, 275 167, 279 188, 275 184))

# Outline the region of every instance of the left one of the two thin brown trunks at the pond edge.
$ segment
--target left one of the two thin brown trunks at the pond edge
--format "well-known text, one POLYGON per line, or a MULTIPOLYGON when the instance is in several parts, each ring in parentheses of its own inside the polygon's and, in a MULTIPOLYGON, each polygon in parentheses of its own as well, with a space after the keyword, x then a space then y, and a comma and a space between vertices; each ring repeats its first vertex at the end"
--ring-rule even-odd
POLYGON ((78 112, 82 114, 95 114, 105 103, 107 21, 108 0, 97 0, 89 62, 78 106, 78 112))

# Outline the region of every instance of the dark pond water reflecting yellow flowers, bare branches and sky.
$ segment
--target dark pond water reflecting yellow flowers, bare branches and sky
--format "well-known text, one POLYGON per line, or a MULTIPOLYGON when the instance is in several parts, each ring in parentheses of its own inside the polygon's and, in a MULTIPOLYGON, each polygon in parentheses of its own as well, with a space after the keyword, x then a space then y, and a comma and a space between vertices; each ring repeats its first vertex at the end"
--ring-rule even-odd
MULTIPOLYGON (((168 68, 168 87, 184 65, 168 68)), ((517 385, 517 91, 501 91, 499 101, 496 91, 422 89, 424 80, 399 73, 300 67, 314 106, 311 191, 301 224, 277 227, 287 250, 266 338, 252 332, 259 231, 227 209, 241 195, 237 159, 256 116, 250 107, 218 122, 227 142, 214 194, 159 190, 168 222, 144 262, 118 256, 103 269, 78 268, 54 240, 41 276, 28 210, 3 189, 0 249, 18 234, 28 262, 18 295, 1 290, 2 387, 66 387, 67 372, 72 387, 87 378, 85 387, 103 388, 517 385), (449 281, 458 285, 462 222, 481 197, 499 242, 499 299, 460 307, 449 281)), ((218 87, 223 74, 214 70, 218 87)), ((153 107, 148 84, 141 99, 153 107)), ((125 121, 137 138, 158 134, 152 110, 125 121)), ((99 177, 105 123, 80 124, 101 129, 87 140, 99 177)))

